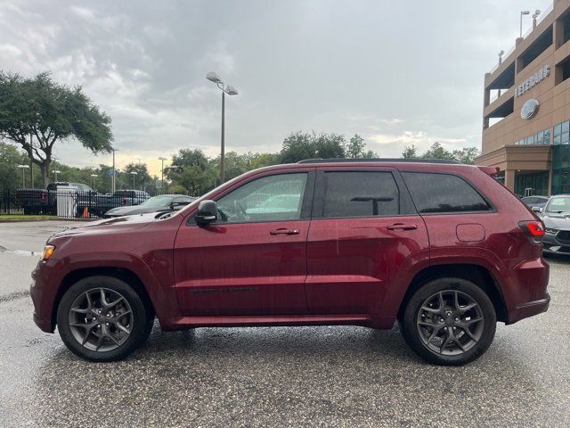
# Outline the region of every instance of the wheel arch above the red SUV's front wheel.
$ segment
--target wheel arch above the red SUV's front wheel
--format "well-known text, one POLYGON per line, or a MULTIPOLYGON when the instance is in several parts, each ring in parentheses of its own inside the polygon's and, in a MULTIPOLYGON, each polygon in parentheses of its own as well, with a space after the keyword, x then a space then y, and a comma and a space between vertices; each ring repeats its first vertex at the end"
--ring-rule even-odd
POLYGON ((126 284, 131 285, 141 296, 142 302, 144 303, 145 308, 150 311, 151 316, 154 317, 156 315, 156 310, 154 309, 154 304, 152 303, 149 292, 147 292, 146 287, 142 284, 139 276, 137 276, 132 270, 117 267, 78 268, 70 271, 61 281, 61 286, 58 288, 55 299, 53 300, 51 314, 52 328, 56 325, 57 309, 60 306, 63 294, 65 294, 73 284, 76 284, 77 281, 89 276, 113 276, 125 281, 126 284))

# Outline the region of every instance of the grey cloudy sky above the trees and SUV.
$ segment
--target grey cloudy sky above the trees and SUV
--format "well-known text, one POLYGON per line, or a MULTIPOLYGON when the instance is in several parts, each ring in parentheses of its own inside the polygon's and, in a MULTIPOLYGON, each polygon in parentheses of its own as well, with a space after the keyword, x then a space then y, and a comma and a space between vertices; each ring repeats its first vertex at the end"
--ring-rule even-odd
MULTIPOLYGON (((548 0, 528 0, 545 9, 548 0)), ((518 1, 3 1, 0 69, 53 78, 113 120, 119 167, 180 148, 276 152, 291 131, 358 133, 380 156, 405 144, 480 146, 483 79, 514 45, 518 1)), ((530 26, 525 17, 525 27, 530 26)), ((110 162, 77 143, 56 156, 110 162)))

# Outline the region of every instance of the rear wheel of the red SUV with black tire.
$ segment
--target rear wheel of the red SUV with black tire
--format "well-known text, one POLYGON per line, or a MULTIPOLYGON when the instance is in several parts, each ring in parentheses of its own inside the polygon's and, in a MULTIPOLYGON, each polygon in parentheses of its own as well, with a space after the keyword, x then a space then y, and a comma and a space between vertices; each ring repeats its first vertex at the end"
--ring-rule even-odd
POLYGON ((404 340, 419 357, 440 366, 461 366, 481 357, 489 348, 497 316, 493 302, 476 284, 444 277, 423 284, 413 293, 401 324, 404 340), (455 309, 455 296, 459 296, 459 309, 455 309), (442 300, 443 307, 441 303, 432 303, 442 300), (473 303, 476 306, 468 309, 473 303), (442 314, 438 312, 440 309, 442 314), (468 311, 462 313, 465 309, 468 311), (482 320, 476 321, 479 318, 482 320))

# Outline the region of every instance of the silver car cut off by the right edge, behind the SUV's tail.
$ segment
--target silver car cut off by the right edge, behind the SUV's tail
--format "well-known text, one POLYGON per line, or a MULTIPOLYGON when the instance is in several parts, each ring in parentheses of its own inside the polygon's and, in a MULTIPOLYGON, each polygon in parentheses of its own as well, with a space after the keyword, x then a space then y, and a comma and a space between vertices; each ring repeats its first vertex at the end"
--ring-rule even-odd
POLYGON ((544 252, 570 255, 570 194, 550 197, 540 211, 546 231, 542 239, 544 252))

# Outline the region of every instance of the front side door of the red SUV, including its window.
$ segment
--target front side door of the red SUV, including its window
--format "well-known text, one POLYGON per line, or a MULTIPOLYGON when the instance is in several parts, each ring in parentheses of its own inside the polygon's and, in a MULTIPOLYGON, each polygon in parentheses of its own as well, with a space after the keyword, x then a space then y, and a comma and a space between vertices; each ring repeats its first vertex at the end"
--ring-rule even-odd
POLYGON ((182 226, 174 260, 183 314, 305 314, 313 188, 313 169, 255 176, 216 198, 216 222, 182 226), (283 195, 287 203, 272 203, 283 195))

